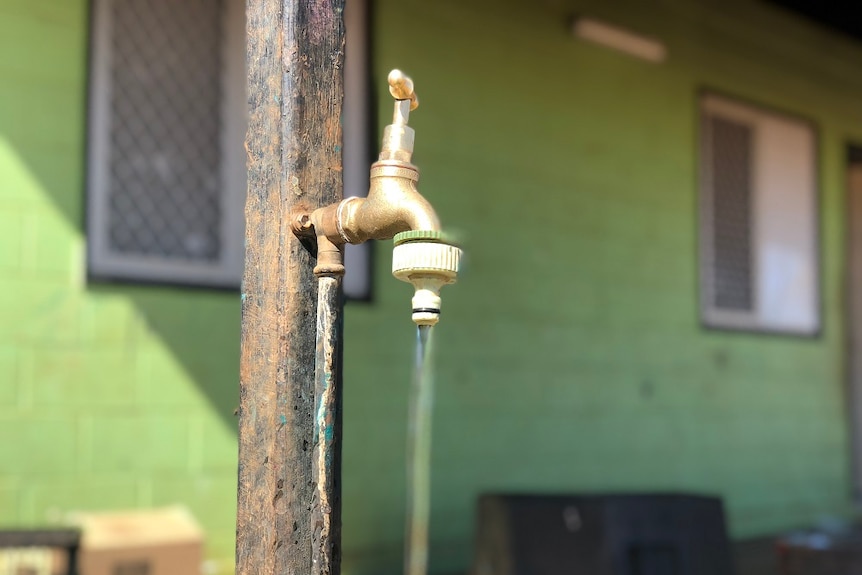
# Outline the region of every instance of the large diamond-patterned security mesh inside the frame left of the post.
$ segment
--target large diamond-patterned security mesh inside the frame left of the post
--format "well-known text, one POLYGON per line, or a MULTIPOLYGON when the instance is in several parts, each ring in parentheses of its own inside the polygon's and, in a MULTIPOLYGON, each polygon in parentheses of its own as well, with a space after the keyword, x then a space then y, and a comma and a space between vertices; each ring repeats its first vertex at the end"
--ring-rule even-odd
POLYGON ((112 251, 219 258, 218 0, 114 0, 108 182, 112 251))

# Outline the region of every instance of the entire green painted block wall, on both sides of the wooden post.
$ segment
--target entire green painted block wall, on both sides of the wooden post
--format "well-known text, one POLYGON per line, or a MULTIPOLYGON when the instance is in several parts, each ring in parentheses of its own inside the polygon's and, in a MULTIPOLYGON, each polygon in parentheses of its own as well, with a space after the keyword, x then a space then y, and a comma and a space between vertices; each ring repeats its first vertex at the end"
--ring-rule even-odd
MULTIPOLYGON (((379 0, 374 26, 377 80, 401 67, 422 97, 420 187, 469 254, 438 330, 432 568, 468 563, 488 490, 720 493, 737 537, 845 512, 843 154, 862 141, 862 49, 741 0, 379 0), (670 57, 580 43, 573 12, 670 57), (704 87, 818 126, 819 338, 699 325, 704 87)), ((183 502, 227 571, 238 297, 86 282, 86 49, 84 0, 0 0, 0 522, 183 502)), ((349 573, 400 570, 410 290, 376 254, 375 302, 346 317, 349 573)))

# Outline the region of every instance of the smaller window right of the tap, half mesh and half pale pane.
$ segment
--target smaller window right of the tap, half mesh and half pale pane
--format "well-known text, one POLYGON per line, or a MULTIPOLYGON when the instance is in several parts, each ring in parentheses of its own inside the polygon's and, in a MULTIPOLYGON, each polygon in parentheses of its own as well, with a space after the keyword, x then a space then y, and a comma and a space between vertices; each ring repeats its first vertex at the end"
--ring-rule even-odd
POLYGON ((701 312, 719 328, 820 328, 816 136, 728 98, 701 100, 701 312))

